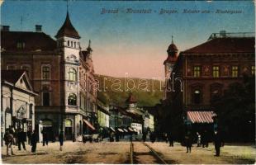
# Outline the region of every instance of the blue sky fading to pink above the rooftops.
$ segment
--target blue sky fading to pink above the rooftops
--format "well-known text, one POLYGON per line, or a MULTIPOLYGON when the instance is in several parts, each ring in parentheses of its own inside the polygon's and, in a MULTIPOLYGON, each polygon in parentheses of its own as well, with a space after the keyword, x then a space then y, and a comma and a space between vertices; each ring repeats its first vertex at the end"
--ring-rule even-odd
MULTIPOLYGON (((172 35, 179 51, 205 42, 212 33, 254 32, 253 1, 69 1, 69 16, 85 50, 92 40, 92 60, 98 74, 114 77, 164 78, 164 59, 172 35), (102 8, 118 9, 102 14, 102 8), (126 13, 127 8, 151 13, 126 13), (178 13, 159 14, 161 9, 178 13), (183 13, 183 10, 200 13, 183 13), (210 13, 201 13, 209 10, 210 13), (216 13, 216 10, 240 13, 216 13)), ((66 1, 7 1, 1 6, 1 25, 11 31, 42 31, 55 39, 67 12, 66 1), (21 21, 22 16, 22 21, 21 21), (21 23, 22 22, 22 23, 21 23)))

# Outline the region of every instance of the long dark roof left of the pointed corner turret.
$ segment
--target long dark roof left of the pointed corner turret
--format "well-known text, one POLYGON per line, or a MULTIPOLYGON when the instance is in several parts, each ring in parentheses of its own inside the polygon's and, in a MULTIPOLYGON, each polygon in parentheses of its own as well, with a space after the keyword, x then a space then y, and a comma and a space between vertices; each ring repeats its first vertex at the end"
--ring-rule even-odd
POLYGON ((1 31, 1 47, 3 50, 55 50, 56 41, 44 32, 33 31, 1 31), (24 48, 17 48, 17 43, 24 43, 24 48))

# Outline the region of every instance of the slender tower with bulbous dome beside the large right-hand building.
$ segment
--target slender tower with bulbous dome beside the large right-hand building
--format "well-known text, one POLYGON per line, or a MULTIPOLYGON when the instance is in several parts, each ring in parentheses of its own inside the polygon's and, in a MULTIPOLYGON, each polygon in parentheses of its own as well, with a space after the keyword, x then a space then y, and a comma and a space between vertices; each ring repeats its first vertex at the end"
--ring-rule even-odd
POLYGON ((164 100, 166 99, 166 92, 168 91, 168 78, 171 78, 171 73, 173 72, 173 66, 178 58, 178 48, 173 43, 172 36, 172 44, 168 46, 168 57, 164 60, 164 73, 165 73, 165 92, 164 92, 164 100))

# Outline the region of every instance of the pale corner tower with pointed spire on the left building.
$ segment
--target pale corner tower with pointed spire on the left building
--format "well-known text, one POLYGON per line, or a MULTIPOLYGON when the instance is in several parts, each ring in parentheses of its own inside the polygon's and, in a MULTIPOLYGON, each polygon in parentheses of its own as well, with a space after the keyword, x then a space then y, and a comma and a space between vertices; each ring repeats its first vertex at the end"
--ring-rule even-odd
MULTIPOLYGON (((78 31, 73 27, 69 12, 67 12, 66 19, 63 26, 60 27, 57 35, 57 47, 61 54, 60 64, 60 97, 61 105, 61 125, 60 130, 65 130, 69 134, 76 133, 76 120, 78 120, 79 108, 79 52, 80 44, 78 31), (67 115, 69 114, 69 115, 67 115), (64 126, 65 125, 65 126, 64 126), (69 128, 66 128, 69 125, 69 128)), ((66 134, 65 135, 69 135, 66 134)))

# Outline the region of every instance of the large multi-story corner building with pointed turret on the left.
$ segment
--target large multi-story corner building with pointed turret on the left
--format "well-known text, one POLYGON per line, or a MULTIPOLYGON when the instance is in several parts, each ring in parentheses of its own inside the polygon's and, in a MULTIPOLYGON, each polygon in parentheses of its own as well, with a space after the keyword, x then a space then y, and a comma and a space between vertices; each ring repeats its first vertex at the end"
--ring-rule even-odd
POLYGON ((69 12, 56 40, 38 25, 35 32, 2 26, 1 35, 1 68, 26 70, 39 93, 35 97, 36 129, 47 130, 50 139, 59 130, 64 130, 66 139, 73 139, 92 129, 97 119, 92 49, 89 45, 82 50, 69 12))

